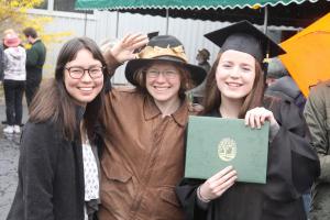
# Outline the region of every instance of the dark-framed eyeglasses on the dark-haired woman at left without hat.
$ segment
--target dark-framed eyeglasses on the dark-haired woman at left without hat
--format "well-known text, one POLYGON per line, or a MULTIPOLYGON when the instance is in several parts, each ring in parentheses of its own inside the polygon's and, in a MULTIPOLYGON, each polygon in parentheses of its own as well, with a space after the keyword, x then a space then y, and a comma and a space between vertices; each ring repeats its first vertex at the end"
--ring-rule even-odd
POLYGON ((94 66, 94 67, 86 69, 86 68, 82 68, 79 66, 73 66, 73 67, 67 67, 65 69, 69 73, 69 76, 74 79, 82 78, 82 76, 85 75, 85 72, 88 73, 90 78, 97 79, 103 75, 105 67, 103 66, 94 66))

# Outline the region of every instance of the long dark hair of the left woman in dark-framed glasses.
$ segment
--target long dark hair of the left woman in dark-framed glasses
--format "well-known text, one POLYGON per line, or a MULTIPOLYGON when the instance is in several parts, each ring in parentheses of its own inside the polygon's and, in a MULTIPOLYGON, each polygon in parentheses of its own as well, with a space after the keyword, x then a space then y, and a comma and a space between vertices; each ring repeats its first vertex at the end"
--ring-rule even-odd
MULTIPOLYGON (((62 129, 66 140, 73 141, 79 130, 77 121, 77 105, 68 95, 64 84, 65 65, 74 61, 80 50, 87 50, 95 59, 101 62, 105 84, 109 80, 106 61, 97 44, 88 37, 75 37, 62 47, 57 57, 55 79, 42 84, 30 107, 30 120, 32 122, 45 122, 51 120, 62 129)), ((97 123, 101 106, 103 103, 105 86, 101 92, 86 106, 84 113, 84 128, 90 141, 95 139, 95 125, 97 123)))

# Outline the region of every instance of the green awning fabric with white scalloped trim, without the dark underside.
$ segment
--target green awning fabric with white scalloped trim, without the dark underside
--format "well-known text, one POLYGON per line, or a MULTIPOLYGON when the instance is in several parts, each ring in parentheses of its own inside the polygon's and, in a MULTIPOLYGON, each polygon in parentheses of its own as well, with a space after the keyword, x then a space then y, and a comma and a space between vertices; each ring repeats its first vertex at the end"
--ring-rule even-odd
MULTIPOLYGON (((128 9, 235 9, 265 6, 287 6, 292 2, 318 0, 76 0, 76 9, 128 10, 128 9)), ((323 0, 319 0, 323 1, 323 0)))

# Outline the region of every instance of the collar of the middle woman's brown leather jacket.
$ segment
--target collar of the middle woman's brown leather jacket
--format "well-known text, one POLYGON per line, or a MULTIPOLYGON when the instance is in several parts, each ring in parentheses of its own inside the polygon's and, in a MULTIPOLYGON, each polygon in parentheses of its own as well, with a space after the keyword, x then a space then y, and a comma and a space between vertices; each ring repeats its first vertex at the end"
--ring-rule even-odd
MULTIPOLYGON (((170 114, 170 117, 179 127, 185 127, 188 121, 188 102, 187 99, 185 99, 182 106, 173 114, 170 114)), ((144 97, 143 114, 145 121, 152 120, 162 114, 153 98, 147 95, 144 97)))

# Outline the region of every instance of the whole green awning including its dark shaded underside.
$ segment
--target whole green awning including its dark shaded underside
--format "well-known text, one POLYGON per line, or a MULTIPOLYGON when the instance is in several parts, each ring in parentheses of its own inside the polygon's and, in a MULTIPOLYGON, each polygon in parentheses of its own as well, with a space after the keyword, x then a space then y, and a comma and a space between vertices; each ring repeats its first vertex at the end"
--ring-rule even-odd
POLYGON ((268 25, 304 28, 330 11, 330 0, 76 0, 79 10, 109 10, 180 19, 248 20, 268 25))

